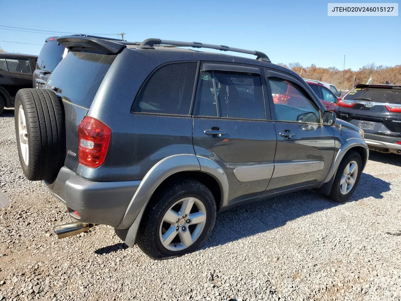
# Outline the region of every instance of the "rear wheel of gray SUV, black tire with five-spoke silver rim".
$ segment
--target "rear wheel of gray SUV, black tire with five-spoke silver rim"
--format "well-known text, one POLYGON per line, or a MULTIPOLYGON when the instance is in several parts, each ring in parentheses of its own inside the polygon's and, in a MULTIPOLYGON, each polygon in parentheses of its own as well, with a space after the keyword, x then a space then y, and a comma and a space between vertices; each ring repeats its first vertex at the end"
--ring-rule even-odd
POLYGON ((198 249, 216 219, 211 191, 193 179, 175 181, 155 193, 138 229, 137 244, 154 259, 180 256, 198 249))

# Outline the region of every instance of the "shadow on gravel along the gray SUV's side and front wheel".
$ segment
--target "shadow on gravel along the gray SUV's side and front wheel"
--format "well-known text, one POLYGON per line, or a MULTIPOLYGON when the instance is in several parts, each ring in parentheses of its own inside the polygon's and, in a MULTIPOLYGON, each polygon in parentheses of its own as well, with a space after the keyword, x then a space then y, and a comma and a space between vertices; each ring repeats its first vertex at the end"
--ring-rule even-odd
MULTIPOLYGON (((382 199, 382 194, 389 190, 390 183, 363 173, 349 201, 358 201, 365 197, 382 199)), ((215 228, 203 248, 266 232, 284 226, 296 218, 339 205, 341 203, 329 201, 314 190, 298 191, 241 205, 217 214, 215 228)))

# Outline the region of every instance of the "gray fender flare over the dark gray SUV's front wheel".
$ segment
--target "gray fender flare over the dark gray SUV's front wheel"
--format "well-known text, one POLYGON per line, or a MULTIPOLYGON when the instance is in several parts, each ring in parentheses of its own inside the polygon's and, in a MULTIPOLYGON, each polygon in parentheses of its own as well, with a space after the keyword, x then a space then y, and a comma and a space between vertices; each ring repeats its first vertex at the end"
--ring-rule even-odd
POLYGON ((345 143, 342 144, 341 148, 338 150, 338 153, 337 153, 336 157, 334 158, 334 161, 330 167, 330 170, 328 171, 326 178, 320 185, 320 187, 319 187, 320 193, 325 194, 325 195, 328 195, 330 193, 331 187, 333 185, 334 177, 337 173, 337 169, 340 166, 342 159, 344 158, 345 154, 348 153, 348 150, 350 150, 351 148, 353 148, 355 146, 359 146, 359 147, 362 147, 365 149, 366 160, 365 160, 365 162, 363 162, 363 165, 364 165, 364 167, 366 166, 366 163, 369 158, 369 147, 366 144, 365 140, 363 140, 361 138, 356 138, 356 137, 347 139, 345 141, 345 143))

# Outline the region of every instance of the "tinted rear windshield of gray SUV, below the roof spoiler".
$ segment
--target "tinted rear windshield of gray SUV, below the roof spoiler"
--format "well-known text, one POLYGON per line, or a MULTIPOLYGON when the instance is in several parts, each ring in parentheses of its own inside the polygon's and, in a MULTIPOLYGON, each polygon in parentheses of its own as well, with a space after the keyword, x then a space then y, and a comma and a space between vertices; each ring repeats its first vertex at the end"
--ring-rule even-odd
POLYGON ((45 88, 67 102, 89 108, 115 55, 69 52, 51 74, 45 88))

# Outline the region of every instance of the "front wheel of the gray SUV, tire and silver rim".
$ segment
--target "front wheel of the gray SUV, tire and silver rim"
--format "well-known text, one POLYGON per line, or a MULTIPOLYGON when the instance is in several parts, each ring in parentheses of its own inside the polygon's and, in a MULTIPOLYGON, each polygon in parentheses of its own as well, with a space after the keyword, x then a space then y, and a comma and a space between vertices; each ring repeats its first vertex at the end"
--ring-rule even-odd
POLYGON ((362 158, 351 151, 342 159, 328 197, 338 203, 348 200, 359 183, 361 172, 362 158))

